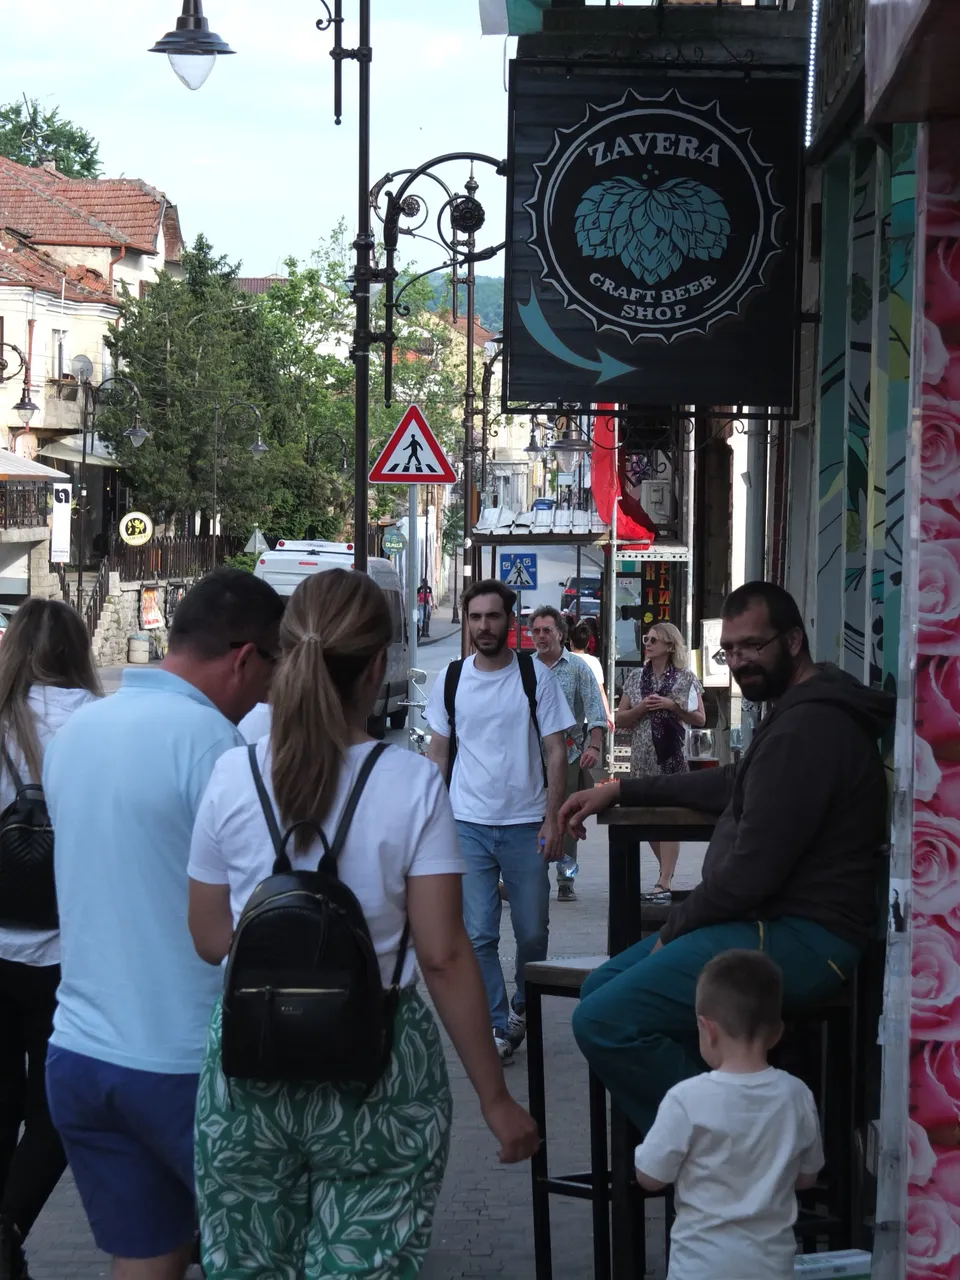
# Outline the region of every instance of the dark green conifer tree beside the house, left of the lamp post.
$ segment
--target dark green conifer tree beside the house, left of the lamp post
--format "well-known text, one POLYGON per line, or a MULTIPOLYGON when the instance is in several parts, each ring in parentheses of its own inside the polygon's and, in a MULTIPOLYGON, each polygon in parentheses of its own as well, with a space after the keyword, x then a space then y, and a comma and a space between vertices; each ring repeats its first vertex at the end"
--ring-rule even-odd
POLYGON ((133 449, 124 435, 129 411, 108 407, 101 435, 128 472, 138 503, 169 530, 186 529, 196 511, 216 507, 227 534, 257 522, 270 536, 330 536, 332 486, 305 456, 296 403, 261 300, 236 287, 237 268, 216 257, 201 236, 184 255, 183 280, 164 273, 145 298, 123 297, 110 339, 118 367, 142 394, 147 440, 133 449), (234 402, 262 415, 268 452, 250 451, 259 424, 234 402), (215 430, 215 408, 220 406, 215 430))

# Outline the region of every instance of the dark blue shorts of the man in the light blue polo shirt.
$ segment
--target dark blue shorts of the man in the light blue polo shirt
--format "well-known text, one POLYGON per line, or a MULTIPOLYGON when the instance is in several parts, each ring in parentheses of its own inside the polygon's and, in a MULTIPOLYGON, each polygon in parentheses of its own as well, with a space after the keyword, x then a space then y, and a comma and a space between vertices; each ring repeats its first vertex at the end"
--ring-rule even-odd
POLYGON ((197 1082, 50 1046, 50 1115, 104 1253, 159 1258, 193 1238, 197 1082))

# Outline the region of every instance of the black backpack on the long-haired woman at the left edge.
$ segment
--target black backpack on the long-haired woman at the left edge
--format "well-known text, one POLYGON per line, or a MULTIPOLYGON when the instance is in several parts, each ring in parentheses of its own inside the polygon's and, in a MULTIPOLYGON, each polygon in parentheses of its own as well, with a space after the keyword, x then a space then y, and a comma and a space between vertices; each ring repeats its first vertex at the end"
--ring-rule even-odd
POLYGON ((5 744, 0 754, 17 791, 0 813, 0 923, 55 929, 54 828, 44 788, 23 781, 5 744))

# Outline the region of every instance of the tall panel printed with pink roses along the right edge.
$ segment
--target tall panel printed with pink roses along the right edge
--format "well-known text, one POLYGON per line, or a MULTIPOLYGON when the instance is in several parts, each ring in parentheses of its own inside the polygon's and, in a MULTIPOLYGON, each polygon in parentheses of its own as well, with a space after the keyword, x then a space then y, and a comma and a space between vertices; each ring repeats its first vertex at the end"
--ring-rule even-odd
POLYGON ((919 559, 908 1277, 960 1280, 960 125, 929 127, 918 178, 925 242, 914 390, 920 490, 909 499, 919 559))

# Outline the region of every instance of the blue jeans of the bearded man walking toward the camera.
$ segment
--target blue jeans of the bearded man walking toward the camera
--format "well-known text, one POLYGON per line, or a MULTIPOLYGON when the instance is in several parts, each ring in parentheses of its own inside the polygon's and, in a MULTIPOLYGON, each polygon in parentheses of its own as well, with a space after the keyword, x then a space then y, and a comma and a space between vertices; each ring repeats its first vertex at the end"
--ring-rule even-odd
POLYGON ((486 986, 490 1024, 507 1030, 509 1009, 500 968, 500 876, 507 890, 513 937, 517 940, 517 993, 513 1006, 524 1009, 524 966, 547 959, 550 881, 540 856, 541 823, 485 827, 458 822, 460 849, 467 864, 463 877, 463 922, 474 943, 486 986))

